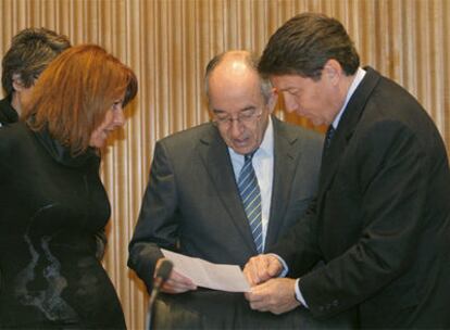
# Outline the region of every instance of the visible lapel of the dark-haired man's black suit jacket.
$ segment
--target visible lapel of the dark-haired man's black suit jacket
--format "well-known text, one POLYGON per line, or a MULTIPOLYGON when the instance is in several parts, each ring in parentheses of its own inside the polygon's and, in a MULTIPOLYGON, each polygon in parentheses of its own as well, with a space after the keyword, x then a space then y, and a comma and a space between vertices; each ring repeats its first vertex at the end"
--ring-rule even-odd
POLYGON ((336 170, 339 167, 341 155, 353 136, 370 96, 380 79, 379 74, 371 67, 365 67, 365 69, 367 73, 350 98, 336 129, 333 142, 322 157, 318 201, 323 200, 323 195, 332 185, 336 170))

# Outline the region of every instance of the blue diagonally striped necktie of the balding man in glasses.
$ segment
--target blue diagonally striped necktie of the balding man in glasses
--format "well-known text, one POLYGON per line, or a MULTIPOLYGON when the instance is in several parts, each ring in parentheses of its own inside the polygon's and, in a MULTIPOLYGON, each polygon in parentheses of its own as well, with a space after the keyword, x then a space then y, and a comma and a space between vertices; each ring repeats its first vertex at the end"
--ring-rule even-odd
POLYGON ((251 163, 253 154, 254 152, 245 155, 245 163, 239 174, 238 189, 257 250, 259 253, 262 253, 261 192, 251 163))

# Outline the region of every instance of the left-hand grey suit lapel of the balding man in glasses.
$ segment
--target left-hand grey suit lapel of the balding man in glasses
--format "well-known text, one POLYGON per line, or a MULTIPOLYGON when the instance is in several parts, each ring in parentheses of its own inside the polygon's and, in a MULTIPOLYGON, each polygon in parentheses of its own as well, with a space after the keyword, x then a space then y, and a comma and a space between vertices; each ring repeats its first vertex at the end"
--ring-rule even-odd
POLYGON ((209 132, 200 138, 198 151, 229 218, 242 236, 243 242, 249 249, 255 251, 257 248, 237 189, 228 149, 217 129, 212 125, 209 132))

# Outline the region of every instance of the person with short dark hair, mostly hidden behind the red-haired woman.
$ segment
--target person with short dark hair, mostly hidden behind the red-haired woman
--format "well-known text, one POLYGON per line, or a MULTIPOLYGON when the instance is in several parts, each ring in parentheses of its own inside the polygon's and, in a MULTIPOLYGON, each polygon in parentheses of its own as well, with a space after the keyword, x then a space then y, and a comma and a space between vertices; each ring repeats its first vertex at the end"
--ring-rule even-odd
POLYGON ((70 47, 67 37, 43 27, 23 29, 12 38, 1 62, 5 98, 0 101, 0 126, 18 120, 36 79, 58 54, 70 47))

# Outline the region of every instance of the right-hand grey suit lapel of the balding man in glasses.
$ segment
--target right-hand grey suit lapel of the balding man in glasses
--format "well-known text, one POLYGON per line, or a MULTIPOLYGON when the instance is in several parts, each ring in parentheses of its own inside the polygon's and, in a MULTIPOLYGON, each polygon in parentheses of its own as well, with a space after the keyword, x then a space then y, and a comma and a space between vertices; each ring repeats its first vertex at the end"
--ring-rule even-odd
POLYGON ((272 122, 274 125, 274 178, 265 246, 276 242, 283 227, 287 204, 291 199, 296 157, 299 156, 298 152, 293 150, 297 145, 297 137, 289 136, 283 126, 284 124, 274 116, 272 122))

